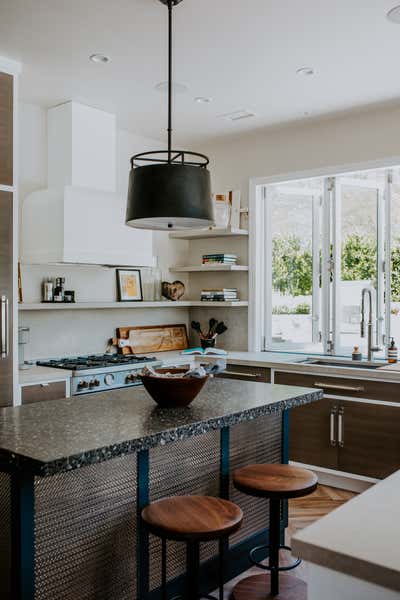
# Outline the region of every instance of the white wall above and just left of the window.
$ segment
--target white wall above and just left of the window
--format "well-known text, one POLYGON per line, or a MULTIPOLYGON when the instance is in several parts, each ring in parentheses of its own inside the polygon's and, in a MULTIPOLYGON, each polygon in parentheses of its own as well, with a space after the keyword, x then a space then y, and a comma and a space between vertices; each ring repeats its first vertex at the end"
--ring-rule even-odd
MULTIPOLYGON (((213 189, 241 189, 242 205, 246 206, 252 177, 399 157, 400 108, 371 109, 232 135, 199 150, 210 157, 213 189)), ((207 247, 212 249, 210 241, 207 247)), ((247 311, 241 310, 239 314, 236 310, 220 309, 218 314, 237 329, 237 335, 231 332, 225 340, 229 346, 247 349, 247 311)))

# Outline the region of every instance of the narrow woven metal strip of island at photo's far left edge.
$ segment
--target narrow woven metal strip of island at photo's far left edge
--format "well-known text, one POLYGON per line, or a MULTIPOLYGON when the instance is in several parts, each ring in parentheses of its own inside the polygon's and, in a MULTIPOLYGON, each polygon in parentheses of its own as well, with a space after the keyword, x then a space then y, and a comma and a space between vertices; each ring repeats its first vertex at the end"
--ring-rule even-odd
POLYGON ((0 598, 11 598, 11 477, 0 473, 0 598))

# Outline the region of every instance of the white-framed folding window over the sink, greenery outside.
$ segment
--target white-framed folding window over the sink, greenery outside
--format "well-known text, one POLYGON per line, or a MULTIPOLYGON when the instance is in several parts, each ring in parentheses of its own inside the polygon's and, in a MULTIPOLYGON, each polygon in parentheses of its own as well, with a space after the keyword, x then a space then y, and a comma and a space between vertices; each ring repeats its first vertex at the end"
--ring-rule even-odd
MULTIPOLYGON (((364 288, 372 290, 373 343, 382 356, 391 336, 400 343, 400 168, 259 184, 256 193, 263 348, 346 355, 359 346, 366 354, 364 288)), ((368 311, 367 302, 367 319, 368 311)))

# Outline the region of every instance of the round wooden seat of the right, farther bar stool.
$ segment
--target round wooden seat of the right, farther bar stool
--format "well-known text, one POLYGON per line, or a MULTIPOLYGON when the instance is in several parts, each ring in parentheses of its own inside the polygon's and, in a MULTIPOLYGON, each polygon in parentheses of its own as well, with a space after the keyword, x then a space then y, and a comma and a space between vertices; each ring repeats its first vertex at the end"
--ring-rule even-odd
POLYGON ((260 464, 237 469, 233 483, 249 496, 282 500, 311 494, 318 478, 312 471, 291 465, 260 464))

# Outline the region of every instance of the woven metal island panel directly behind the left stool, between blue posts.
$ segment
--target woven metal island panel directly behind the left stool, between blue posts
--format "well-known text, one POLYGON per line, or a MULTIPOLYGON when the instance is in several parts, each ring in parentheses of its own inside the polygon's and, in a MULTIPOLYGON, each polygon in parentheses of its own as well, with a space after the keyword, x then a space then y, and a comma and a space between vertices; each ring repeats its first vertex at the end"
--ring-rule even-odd
MULTIPOLYGON (((220 491, 220 431, 198 435, 150 450, 150 499, 174 495, 218 496, 220 491)), ((185 544, 168 542, 167 577, 186 570, 185 544)), ((217 554, 217 543, 201 545, 201 560, 217 554)), ((161 585, 161 543, 150 536, 150 590, 161 585)))

